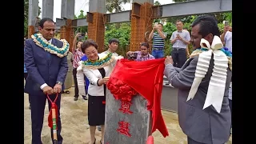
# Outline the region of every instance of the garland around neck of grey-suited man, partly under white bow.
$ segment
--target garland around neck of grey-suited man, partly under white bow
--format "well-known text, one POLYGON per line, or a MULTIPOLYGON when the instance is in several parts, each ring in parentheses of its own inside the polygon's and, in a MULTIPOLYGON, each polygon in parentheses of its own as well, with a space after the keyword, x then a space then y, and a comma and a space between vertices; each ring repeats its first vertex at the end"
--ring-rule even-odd
MULTIPOLYGON (((223 47, 220 50, 222 50, 222 52, 224 54, 226 54, 226 57, 229 60, 228 61, 229 68, 232 71, 232 52, 230 52, 230 50, 228 48, 226 48, 226 47, 223 47)), ((190 58, 193 58, 194 56, 197 56, 197 55, 201 54, 203 51, 207 51, 207 49, 205 49, 205 48, 198 48, 198 49, 194 50, 192 52, 192 54, 190 54, 190 58)))

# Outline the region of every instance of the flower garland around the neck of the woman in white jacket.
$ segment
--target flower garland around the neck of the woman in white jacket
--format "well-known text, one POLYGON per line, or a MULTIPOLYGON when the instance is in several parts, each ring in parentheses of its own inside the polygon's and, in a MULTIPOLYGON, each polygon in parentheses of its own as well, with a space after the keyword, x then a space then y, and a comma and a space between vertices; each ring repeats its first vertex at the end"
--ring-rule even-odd
POLYGON ((109 53, 106 55, 106 57, 98 59, 96 62, 90 61, 90 59, 87 59, 86 61, 83 61, 83 66, 87 67, 88 69, 100 69, 104 66, 109 65, 114 60, 114 56, 112 56, 113 53, 109 53))

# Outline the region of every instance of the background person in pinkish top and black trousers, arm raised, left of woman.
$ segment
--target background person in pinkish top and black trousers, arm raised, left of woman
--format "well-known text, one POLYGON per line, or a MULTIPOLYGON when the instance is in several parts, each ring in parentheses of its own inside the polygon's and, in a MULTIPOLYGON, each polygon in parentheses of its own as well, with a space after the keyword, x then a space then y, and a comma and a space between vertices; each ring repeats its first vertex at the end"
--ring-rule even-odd
MULTIPOLYGON (((74 54, 74 62, 73 62, 73 77, 74 77, 74 101, 78 100, 79 91, 78 91, 78 79, 77 79, 77 68, 78 62, 81 60, 84 55, 81 50, 82 42, 78 41, 78 38, 82 36, 81 33, 78 33, 74 37, 72 53, 74 54)), ((86 95, 82 95, 84 100, 87 100, 86 95)))

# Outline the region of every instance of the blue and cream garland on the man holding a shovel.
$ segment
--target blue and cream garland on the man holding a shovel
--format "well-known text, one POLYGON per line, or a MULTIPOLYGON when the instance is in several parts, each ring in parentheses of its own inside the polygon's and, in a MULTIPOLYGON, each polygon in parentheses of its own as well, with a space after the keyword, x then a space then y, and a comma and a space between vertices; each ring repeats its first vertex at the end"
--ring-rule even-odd
POLYGON ((42 34, 34 34, 31 35, 33 41, 36 45, 42 47, 44 50, 48 51, 50 54, 56 54, 59 58, 65 57, 69 52, 70 44, 66 42, 65 39, 61 39, 60 41, 63 42, 62 48, 58 48, 54 46, 50 42, 46 40, 46 38, 42 37, 42 34))

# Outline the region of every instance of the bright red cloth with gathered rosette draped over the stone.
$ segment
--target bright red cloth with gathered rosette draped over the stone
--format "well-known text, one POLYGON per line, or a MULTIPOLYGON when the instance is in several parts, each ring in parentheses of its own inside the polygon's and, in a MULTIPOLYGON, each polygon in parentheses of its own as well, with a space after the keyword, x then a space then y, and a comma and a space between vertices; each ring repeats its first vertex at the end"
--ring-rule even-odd
POLYGON ((164 58, 144 62, 119 59, 110 75, 107 88, 115 99, 129 98, 137 92, 146 98, 147 110, 152 110, 152 133, 158 129, 166 137, 169 134, 160 106, 164 61, 164 58))

